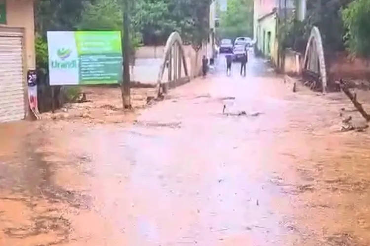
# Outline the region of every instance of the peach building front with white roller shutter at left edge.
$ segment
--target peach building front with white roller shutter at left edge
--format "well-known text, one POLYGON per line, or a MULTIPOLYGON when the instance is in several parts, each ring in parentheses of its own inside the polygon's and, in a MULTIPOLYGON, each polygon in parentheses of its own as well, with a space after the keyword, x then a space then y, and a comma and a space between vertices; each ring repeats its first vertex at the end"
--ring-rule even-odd
POLYGON ((34 0, 0 0, 0 123, 29 112, 27 70, 36 68, 34 0))

